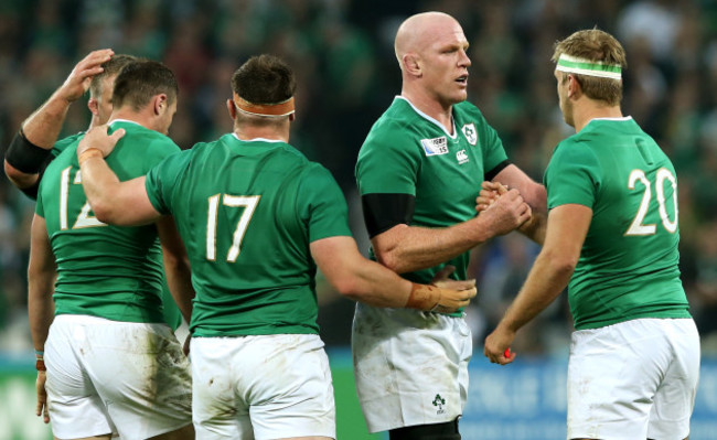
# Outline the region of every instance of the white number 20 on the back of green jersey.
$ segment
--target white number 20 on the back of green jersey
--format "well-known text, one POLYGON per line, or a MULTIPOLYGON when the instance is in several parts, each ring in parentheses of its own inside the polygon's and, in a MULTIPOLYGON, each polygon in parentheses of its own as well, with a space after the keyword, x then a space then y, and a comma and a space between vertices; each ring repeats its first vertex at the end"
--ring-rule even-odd
MULTIPOLYGON (((638 181, 642 183, 642 185, 645 189, 644 190, 645 192, 642 194, 642 202, 640 203, 640 208, 638 210, 638 214, 635 215, 635 218, 632 221, 632 224, 630 224, 630 227, 628 228, 625 235, 652 235, 656 230, 655 225, 654 224, 644 225, 642 223, 645 216, 648 215, 648 208, 650 207, 650 200, 652 198, 651 183, 648 180, 648 176, 645 175, 644 171, 632 170, 632 172, 630 173, 630 178, 628 179, 628 189, 634 190, 638 181)), ((662 226, 664 226, 664 228, 667 229, 670 233, 674 233, 675 230, 677 230, 677 217, 678 217, 677 180, 675 179, 674 175, 672 175, 670 170, 661 168, 657 171, 655 190, 656 190, 655 192, 657 193, 657 206, 659 206, 657 211, 660 213, 660 218, 662 219, 662 226), (667 208, 665 206, 665 189, 664 189, 665 180, 668 180, 670 183, 672 184, 672 202, 675 206, 674 219, 670 219, 670 215, 667 214, 667 208)))

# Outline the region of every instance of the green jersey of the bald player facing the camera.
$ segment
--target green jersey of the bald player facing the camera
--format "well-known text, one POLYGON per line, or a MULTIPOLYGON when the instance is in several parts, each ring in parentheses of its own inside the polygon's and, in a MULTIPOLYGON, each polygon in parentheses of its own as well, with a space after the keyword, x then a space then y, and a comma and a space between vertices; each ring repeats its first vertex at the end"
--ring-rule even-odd
MULTIPOLYGON (((497 133, 472 104, 453 106, 453 133, 449 135, 437 120, 398 96, 374 124, 358 152, 356 181, 361 195, 414 195, 411 226, 447 227, 475 216, 475 197, 485 172, 506 159, 497 133)), ((452 277, 465 279, 469 257, 470 253, 464 253, 402 276, 429 283, 445 265, 453 265, 452 277)))

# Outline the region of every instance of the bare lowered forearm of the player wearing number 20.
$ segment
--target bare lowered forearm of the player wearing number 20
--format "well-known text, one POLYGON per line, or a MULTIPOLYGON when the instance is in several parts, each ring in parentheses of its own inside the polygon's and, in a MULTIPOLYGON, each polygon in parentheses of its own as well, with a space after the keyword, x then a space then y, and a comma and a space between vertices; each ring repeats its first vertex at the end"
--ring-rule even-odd
POLYGON ((523 288, 505 312, 499 326, 517 332, 545 310, 566 288, 575 266, 561 262, 550 251, 543 251, 535 260, 523 288))

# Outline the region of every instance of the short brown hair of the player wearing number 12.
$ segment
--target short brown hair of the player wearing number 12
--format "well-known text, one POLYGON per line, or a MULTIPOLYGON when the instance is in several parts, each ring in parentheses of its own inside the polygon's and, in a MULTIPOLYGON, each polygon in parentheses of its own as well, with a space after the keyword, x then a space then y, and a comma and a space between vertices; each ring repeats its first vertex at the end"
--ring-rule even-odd
POLYGON ((136 61, 117 75, 113 104, 139 110, 159 94, 167 94, 169 103, 176 99, 179 86, 172 71, 157 61, 136 61))

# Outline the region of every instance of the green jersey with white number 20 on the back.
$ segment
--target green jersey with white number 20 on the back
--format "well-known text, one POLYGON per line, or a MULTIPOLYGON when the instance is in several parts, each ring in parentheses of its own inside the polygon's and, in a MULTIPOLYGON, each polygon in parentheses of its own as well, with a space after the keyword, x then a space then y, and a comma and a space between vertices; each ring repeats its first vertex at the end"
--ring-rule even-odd
POLYGON ((592 210, 568 286, 577 330, 689 318, 677 268, 675 169, 632 118, 592 119, 558 143, 544 180, 549 210, 592 210))

